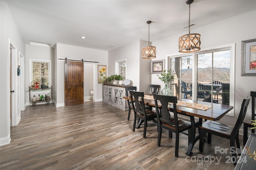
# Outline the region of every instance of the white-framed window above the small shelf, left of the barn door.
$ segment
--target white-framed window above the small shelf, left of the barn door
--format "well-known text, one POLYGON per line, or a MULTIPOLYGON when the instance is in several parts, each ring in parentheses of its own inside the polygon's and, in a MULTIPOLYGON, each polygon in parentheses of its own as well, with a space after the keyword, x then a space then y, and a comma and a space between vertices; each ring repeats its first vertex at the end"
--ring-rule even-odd
POLYGON ((30 60, 30 82, 50 87, 50 61, 30 60))

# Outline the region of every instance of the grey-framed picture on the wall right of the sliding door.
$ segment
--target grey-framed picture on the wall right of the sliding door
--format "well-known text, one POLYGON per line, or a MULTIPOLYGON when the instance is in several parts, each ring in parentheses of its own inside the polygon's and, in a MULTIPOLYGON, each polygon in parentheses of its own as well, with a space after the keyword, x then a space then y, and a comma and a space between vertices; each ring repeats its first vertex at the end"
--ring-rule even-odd
POLYGON ((241 76, 256 76, 256 39, 241 41, 241 76))

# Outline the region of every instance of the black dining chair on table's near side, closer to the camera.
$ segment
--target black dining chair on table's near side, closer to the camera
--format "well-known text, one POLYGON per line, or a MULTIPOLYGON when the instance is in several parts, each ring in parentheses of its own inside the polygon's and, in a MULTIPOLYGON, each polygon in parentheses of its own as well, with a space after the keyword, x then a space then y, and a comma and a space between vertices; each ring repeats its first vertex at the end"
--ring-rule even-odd
MULTIPOLYGON (((158 140, 157 146, 160 147, 161 136, 162 136, 162 128, 167 129, 169 131, 169 138, 172 138, 172 132, 176 133, 175 140, 175 156, 179 156, 179 139, 180 133, 188 135, 190 138, 191 135, 191 123, 188 121, 184 121, 178 119, 178 113, 176 110, 176 104, 178 103, 176 96, 164 96, 159 94, 153 94, 156 106, 156 116, 157 116, 157 129, 158 129, 158 140), (161 103, 162 107, 158 106, 158 100, 161 103), (168 105, 173 104, 173 114, 174 116, 170 116, 170 112, 168 110, 168 105), (162 110, 161 113, 159 110, 162 110), (188 130, 188 134, 184 133, 184 131, 188 130)), ((189 140, 189 139, 188 139, 189 140)))

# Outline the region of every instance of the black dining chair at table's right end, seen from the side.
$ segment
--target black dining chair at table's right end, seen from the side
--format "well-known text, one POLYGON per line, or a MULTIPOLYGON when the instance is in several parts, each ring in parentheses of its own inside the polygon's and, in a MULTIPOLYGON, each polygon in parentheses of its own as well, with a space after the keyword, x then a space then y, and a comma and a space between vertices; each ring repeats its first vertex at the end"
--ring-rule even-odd
MULTIPOLYGON (((244 120, 249 102, 250 102, 250 98, 243 100, 241 110, 234 127, 225 125, 217 121, 211 121, 211 120, 207 120, 204 123, 202 123, 202 125, 199 126, 199 132, 200 132, 199 150, 201 152, 203 152, 204 150, 204 136, 206 133, 208 133, 208 139, 207 139, 208 143, 211 143, 212 135, 216 135, 219 137, 229 139, 230 148, 231 147, 235 148, 235 141, 236 141, 236 147, 240 149, 240 143, 238 139, 239 129, 244 120)), ((232 152, 232 156, 234 156, 234 158, 237 158, 235 152, 232 152)), ((236 162, 234 162, 234 165, 236 165, 236 162)))

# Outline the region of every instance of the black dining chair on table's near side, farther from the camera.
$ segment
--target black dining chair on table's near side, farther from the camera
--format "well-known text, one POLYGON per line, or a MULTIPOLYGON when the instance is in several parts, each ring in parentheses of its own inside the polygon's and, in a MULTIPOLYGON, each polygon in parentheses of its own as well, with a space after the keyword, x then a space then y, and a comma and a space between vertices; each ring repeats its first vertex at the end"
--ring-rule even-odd
POLYGON ((134 122, 133 122, 132 131, 133 132, 135 131, 136 120, 138 118, 140 120, 140 125, 144 122, 143 137, 146 138, 148 121, 156 122, 155 120, 156 112, 145 108, 144 92, 136 92, 136 91, 130 90, 130 98, 131 98, 131 101, 133 101, 131 103, 132 103, 132 109, 134 111, 134 122), (139 100, 139 98, 141 98, 141 100, 139 100))

